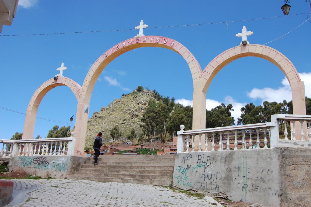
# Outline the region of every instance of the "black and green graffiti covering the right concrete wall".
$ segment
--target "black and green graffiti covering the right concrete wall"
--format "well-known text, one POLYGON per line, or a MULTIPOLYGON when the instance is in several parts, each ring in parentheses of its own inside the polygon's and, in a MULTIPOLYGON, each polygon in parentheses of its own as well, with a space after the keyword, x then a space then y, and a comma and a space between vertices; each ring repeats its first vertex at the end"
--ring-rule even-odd
POLYGON ((247 194, 258 191, 274 195, 276 189, 268 187, 267 183, 273 181, 276 172, 266 165, 262 168, 256 165, 255 162, 248 164, 247 153, 241 153, 235 160, 228 153, 219 153, 219 156, 183 153, 176 162, 173 183, 181 189, 215 193, 233 189, 242 200, 246 199, 247 194))

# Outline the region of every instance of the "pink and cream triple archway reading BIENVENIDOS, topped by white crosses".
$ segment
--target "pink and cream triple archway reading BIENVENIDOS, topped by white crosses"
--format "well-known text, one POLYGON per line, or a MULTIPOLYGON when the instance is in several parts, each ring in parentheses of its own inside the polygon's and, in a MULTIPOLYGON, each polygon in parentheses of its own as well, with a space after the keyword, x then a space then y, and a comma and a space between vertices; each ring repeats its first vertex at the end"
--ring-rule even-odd
MULTIPOLYGON (((35 117, 43 96, 53 87, 67 85, 75 94, 78 101, 75 123, 75 155, 83 156, 83 154, 81 155, 79 152, 84 151, 91 95, 100 73, 111 61, 113 61, 118 56, 132 49, 142 47, 161 47, 170 49, 180 54, 186 60, 193 79, 193 129, 205 129, 206 93, 213 78, 223 67, 225 67, 225 65, 229 64, 235 59, 247 56, 266 59, 281 69, 290 82, 293 95, 294 114, 305 115, 304 83, 299 78, 298 72, 294 65, 283 54, 273 48, 267 47, 265 45, 249 44, 246 40, 246 36, 251 35, 252 32, 247 32, 246 28, 243 28, 245 31, 243 30, 242 33, 238 34, 238 36, 243 38, 240 46, 230 48, 219 54, 202 71, 200 64, 197 62, 193 54, 191 54, 191 52, 178 41, 162 36, 143 35, 142 29, 146 28, 147 26, 148 25, 144 25, 143 21, 141 21, 141 25, 137 26, 137 29, 140 30, 137 36, 128 40, 124 40, 104 52, 104 54, 102 54, 90 68, 86 78, 84 79, 82 87, 80 87, 78 83, 72 81, 69 78, 63 77, 60 74, 60 77, 58 77, 57 81, 53 80, 52 78, 42 84, 34 93, 27 108, 24 134, 22 139, 33 138, 35 117)), ((62 67, 63 65, 61 68, 62 67)), ((64 68, 60 69, 60 71, 62 70, 64 70, 64 68)), ((300 129, 297 128, 296 131, 297 134, 299 134, 300 129)), ((205 137, 202 136, 201 142, 204 143, 204 140, 205 137)), ((196 142, 198 142, 197 139, 196 142)))

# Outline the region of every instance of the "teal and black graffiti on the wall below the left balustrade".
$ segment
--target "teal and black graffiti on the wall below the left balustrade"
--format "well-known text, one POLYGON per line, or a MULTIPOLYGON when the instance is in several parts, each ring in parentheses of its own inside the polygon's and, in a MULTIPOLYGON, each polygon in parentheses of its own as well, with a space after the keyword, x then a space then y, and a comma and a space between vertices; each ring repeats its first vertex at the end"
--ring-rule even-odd
POLYGON ((52 170, 58 172, 66 172, 68 158, 59 158, 51 163, 46 156, 22 156, 18 158, 20 165, 23 167, 31 167, 35 169, 52 170))

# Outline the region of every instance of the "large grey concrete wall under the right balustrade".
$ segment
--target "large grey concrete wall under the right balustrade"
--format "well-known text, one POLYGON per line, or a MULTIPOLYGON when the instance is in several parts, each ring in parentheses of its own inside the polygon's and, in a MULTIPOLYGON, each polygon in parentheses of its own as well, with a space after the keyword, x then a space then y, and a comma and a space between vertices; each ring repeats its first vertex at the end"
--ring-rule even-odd
POLYGON ((176 155, 173 185, 185 190, 225 192, 231 200, 267 206, 299 206, 287 202, 296 202, 298 194, 303 194, 299 198, 309 205, 301 206, 311 206, 311 190, 307 188, 311 182, 310 157, 310 149, 293 148, 181 153, 176 155), (288 157, 295 163, 294 172, 288 157), (303 163, 297 162, 301 159, 303 163), (290 190, 293 187, 295 192, 290 190))

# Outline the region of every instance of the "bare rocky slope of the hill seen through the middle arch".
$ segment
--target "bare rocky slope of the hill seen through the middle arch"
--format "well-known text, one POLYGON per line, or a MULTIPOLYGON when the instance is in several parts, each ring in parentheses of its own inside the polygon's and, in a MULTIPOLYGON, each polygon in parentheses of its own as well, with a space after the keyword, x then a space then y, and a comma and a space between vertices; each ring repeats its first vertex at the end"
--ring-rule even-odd
POLYGON ((150 98, 153 98, 153 92, 134 90, 120 99, 114 99, 109 106, 102 107, 100 111, 95 111, 87 123, 85 148, 93 148, 94 138, 100 131, 103 131, 103 142, 112 141, 110 130, 115 125, 118 125, 124 138, 133 128, 139 136, 142 133, 141 118, 150 98))

